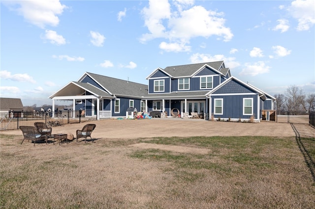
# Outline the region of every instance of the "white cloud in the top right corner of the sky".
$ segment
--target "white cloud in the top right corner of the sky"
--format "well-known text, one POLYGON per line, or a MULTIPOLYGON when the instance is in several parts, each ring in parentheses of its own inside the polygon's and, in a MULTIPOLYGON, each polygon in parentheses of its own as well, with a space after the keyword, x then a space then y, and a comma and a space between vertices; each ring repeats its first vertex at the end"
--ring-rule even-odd
POLYGON ((297 19, 297 30, 309 30, 315 24, 315 1, 295 0, 288 8, 290 15, 297 19))

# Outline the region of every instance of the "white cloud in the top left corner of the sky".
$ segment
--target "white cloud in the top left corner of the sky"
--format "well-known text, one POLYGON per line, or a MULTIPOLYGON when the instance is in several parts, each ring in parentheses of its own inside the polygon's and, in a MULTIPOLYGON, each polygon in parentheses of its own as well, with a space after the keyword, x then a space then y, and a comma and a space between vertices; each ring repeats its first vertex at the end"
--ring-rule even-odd
POLYGON ((45 28, 46 25, 58 26, 57 15, 61 15, 67 8, 59 0, 10 0, 1 3, 17 11, 27 22, 40 28, 45 28))

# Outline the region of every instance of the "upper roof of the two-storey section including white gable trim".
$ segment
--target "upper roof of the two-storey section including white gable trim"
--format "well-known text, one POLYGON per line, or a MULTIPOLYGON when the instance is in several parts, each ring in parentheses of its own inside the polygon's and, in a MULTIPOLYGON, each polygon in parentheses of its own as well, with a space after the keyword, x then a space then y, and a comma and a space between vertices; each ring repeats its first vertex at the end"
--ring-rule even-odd
MULTIPOLYGON (((177 65, 177 66, 169 66, 165 69, 157 68, 153 73, 151 73, 146 79, 150 78, 153 74, 155 74, 158 70, 161 70, 162 72, 166 73, 172 78, 180 78, 180 77, 191 77, 200 70, 204 66, 209 66, 210 68, 220 72, 221 74, 224 74, 225 70, 221 72, 221 67, 224 68, 224 62, 223 61, 217 61, 217 62, 204 62, 204 63, 198 63, 198 64, 189 64, 189 65, 177 65)), ((224 76, 226 75, 227 71, 225 72, 224 76)))

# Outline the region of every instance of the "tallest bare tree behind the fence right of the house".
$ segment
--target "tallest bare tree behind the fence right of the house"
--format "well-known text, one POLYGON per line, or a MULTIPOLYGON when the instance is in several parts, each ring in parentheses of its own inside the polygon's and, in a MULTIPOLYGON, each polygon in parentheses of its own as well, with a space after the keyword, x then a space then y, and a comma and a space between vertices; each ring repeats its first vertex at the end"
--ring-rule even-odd
POLYGON ((299 111, 303 110, 305 95, 303 89, 296 85, 289 86, 285 93, 285 105, 288 111, 299 111))

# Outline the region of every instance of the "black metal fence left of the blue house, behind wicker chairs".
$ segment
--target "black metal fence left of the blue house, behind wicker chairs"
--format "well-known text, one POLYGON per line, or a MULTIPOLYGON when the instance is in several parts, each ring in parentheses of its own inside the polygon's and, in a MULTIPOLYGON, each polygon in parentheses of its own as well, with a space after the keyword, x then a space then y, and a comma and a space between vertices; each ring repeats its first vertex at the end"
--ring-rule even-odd
MULTIPOLYGON (((33 126, 35 122, 43 122, 48 127, 80 123, 87 120, 80 110, 60 110, 58 112, 1 112, 0 131, 16 130, 20 126, 33 126), (74 116, 74 117, 73 117, 74 116)), ((89 117, 89 120, 93 118, 89 117)))

